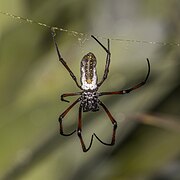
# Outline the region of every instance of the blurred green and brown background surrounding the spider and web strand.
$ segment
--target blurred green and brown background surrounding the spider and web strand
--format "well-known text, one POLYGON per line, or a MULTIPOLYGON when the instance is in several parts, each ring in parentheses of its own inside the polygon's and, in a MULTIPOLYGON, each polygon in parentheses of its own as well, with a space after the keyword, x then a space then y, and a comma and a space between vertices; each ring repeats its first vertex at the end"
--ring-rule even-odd
MULTIPOLYGON (((179 0, 0 0, 0 10, 101 37, 180 42, 179 0)), ((90 51, 101 79, 106 54, 94 40, 59 31, 56 38, 78 79, 90 51)), ((60 95, 79 89, 58 61, 50 31, 0 14, 0 179, 180 179, 180 47, 111 40, 111 53, 100 91, 142 81, 146 58, 150 78, 131 94, 101 98, 118 122, 116 144, 94 140, 83 153, 76 134, 59 135, 57 119, 68 107, 60 95)), ((64 119, 66 132, 77 127, 77 115, 75 106, 64 119)), ((102 110, 83 114, 87 145, 93 132, 110 141, 112 125, 102 110)))

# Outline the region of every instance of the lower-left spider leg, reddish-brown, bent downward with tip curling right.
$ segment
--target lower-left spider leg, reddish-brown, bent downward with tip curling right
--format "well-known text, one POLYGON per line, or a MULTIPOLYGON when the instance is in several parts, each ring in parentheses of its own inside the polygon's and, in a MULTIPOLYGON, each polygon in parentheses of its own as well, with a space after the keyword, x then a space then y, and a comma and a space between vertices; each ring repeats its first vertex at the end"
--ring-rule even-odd
POLYGON ((74 130, 72 133, 70 134, 64 134, 64 131, 63 131, 63 125, 62 125, 62 119, 64 118, 64 116, 70 111, 70 109, 75 106, 81 99, 78 98, 76 101, 74 101, 60 116, 59 116, 59 125, 60 125, 60 134, 63 135, 63 136, 70 136, 72 135, 73 133, 76 132, 76 130, 74 130))

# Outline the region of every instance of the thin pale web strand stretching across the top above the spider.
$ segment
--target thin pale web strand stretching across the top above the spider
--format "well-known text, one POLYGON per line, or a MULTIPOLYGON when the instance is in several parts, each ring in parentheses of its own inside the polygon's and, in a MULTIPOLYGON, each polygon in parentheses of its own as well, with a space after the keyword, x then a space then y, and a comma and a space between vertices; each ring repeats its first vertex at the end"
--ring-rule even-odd
MULTIPOLYGON (((83 44, 86 40, 89 40, 89 38, 91 36, 88 33, 71 31, 71 30, 61 28, 61 27, 50 26, 50 25, 47 25, 45 23, 37 22, 37 21, 31 20, 31 19, 28 19, 28 18, 13 15, 13 14, 10 14, 8 12, 0 11, 0 14, 9 16, 9 17, 11 17, 13 19, 16 19, 16 20, 22 20, 22 21, 25 21, 25 22, 30 23, 30 24, 37 24, 39 26, 42 26, 43 28, 48 28, 48 29, 53 30, 53 31, 56 30, 56 31, 66 32, 66 33, 68 33, 68 34, 70 34, 72 36, 78 37, 78 41, 80 41, 81 44, 83 44)), ((110 39, 111 41, 121 41, 121 42, 126 42, 126 43, 141 43, 141 44, 151 44, 151 45, 160 45, 160 46, 178 46, 178 47, 180 47, 180 43, 176 43, 176 42, 144 41, 144 40, 123 39, 123 38, 109 38, 109 37, 107 38, 107 37, 102 37, 102 36, 99 36, 99 35, 94 35, 94 36, 97 37, 97 38, 101 38, 101 39, 106 39, 106 40, 110 39)))

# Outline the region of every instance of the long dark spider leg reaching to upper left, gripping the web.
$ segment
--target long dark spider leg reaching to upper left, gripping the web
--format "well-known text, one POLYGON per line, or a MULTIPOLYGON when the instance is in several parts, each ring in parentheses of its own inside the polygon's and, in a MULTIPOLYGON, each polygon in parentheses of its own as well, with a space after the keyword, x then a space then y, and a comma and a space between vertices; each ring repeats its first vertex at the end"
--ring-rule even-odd
POLYGON ((70 76, 72 77, 72 79, 75 81, 76 85, 80 88, 81 86, 78 84, 77 82, 77 78, 76 76, 74 75, 74 73, 71 71, 71 69, 69 68, 69 66, 67 65, 67 63, 64 61, 64 59, 62 58, 61 54, 60 54, 60 51, 59 51, 59 48, 58 48, 58 45, 57 45, 57 42, 55 40, 55 30, 54 29, 51 29, 51 34, 52 34, 52 38, 53 38, 53 41, 54 41, 54 45, 56 47, 56 51, 57 51, 57 55, 58 55, 58 58, 59 58, 59 61, 63 64, 63 66, 68 70, 70 76))

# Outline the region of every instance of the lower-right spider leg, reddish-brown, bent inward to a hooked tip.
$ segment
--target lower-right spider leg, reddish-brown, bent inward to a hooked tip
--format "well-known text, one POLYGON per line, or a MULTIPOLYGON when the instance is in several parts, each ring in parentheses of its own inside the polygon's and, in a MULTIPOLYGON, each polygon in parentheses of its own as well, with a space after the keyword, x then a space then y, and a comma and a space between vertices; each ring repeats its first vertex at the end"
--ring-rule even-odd
POLYGON ((117 122, 116 120, 112 117, 111 113, 109 112, 109 110, 107 109, 107 107, 101 102, 99 101, 99 104, 103 107, 103 109, 105 110, 105 112, 107 113, 109 119, 111 120, 112 124, 113 124, 113 134, 112 134, 112 139, 110 143, 105 143, 103 142, 95 133, 94 136, 104 145, 107 146, 113 146, 115 144, 115 138, 116 138, 116 129, 117 129, 117 122))

